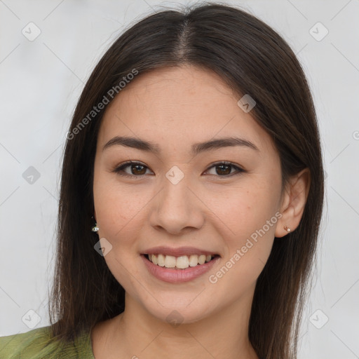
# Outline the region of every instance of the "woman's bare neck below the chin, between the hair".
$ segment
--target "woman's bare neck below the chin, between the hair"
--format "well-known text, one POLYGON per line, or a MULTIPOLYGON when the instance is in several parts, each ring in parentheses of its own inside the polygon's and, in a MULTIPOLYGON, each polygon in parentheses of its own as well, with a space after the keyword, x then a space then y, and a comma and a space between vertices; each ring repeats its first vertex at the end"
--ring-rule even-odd
MULTIPOLYGON (((111 319, 105 350, 110 358, 114 353, 134 359, 165 358, 170 353, 171 359, 257 359, 248 339, 252 294, 195 323, 175 325, 152 316, 126 293, 126 310, 111 319)), ((180 322, 180 314, 178 318, 180 322)))

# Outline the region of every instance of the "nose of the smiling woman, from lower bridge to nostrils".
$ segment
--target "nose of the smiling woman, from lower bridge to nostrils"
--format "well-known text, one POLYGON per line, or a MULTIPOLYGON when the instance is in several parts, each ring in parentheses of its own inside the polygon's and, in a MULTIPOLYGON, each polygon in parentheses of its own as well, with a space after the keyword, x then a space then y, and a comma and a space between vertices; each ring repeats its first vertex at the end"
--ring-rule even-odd
POLYGON ((203 207, 196 190, 185 179, 173 184, 165 178, 161 191, 152 201, 150 224, 174 235, 189 228, 200 229, 204 223, 203 207))

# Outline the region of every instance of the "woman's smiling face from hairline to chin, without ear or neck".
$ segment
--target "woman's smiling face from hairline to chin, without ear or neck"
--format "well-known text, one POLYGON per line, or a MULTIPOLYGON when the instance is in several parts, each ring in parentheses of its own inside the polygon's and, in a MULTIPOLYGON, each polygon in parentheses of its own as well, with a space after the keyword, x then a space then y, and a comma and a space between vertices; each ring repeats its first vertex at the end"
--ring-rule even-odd
POLYGON ((217 74, 166 68, 138 75, 104 114, 93 182, 104 259, 160 320, 175 309, 192 323, 252 295, 271 252, 280 158, 238 100, 217 74), (198 146, 227 137, 241 140, 198 146))

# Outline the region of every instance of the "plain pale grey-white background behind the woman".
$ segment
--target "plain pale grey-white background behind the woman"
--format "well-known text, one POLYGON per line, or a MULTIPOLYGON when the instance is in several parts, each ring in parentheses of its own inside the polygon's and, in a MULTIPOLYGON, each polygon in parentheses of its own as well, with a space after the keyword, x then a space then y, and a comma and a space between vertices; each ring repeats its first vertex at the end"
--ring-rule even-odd
MULTIPOLYGON (((49 325, 62 149, 84 83, 125 27, 179 3, 189 4, 0 1, 0 336, 29 331, 22 317, 31 309, 41 318, 36 327, 49 325), (22 34, 29 22, 41 30, 34 41, 22 34), (40 174, 33 184, 22 177, 29 166, 40 174)), ((359 1, 227 4, 257 15, 290 43, 318 112, 326 201, 299 359, 359 358, 359 1), (310 34, 317 22, 329 31, 321 41, 310 34), (325 316, 323 327, 313 325, 325 316)), ((318 37, 325 28, 312 31, 318 37)))

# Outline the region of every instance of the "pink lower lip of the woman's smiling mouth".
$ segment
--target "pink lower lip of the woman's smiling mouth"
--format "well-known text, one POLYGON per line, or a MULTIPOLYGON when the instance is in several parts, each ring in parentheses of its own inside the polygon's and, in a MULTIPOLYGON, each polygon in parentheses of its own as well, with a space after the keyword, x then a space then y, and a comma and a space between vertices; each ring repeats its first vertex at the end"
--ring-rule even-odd
POLYGON ((183 283, 198 278, 199 276, 202 276, 204 273, 208 272, 219 259, 219 257, 215 257, 210 262, 197 266, 189 266, 186 269, 172 269, 153 264, 149 261, 149 259, 144 257, 144 255, 141 255, 141 257, 145 266, 149 270, 149 273, 151 273, 156 278, 168 283, 183 283))

